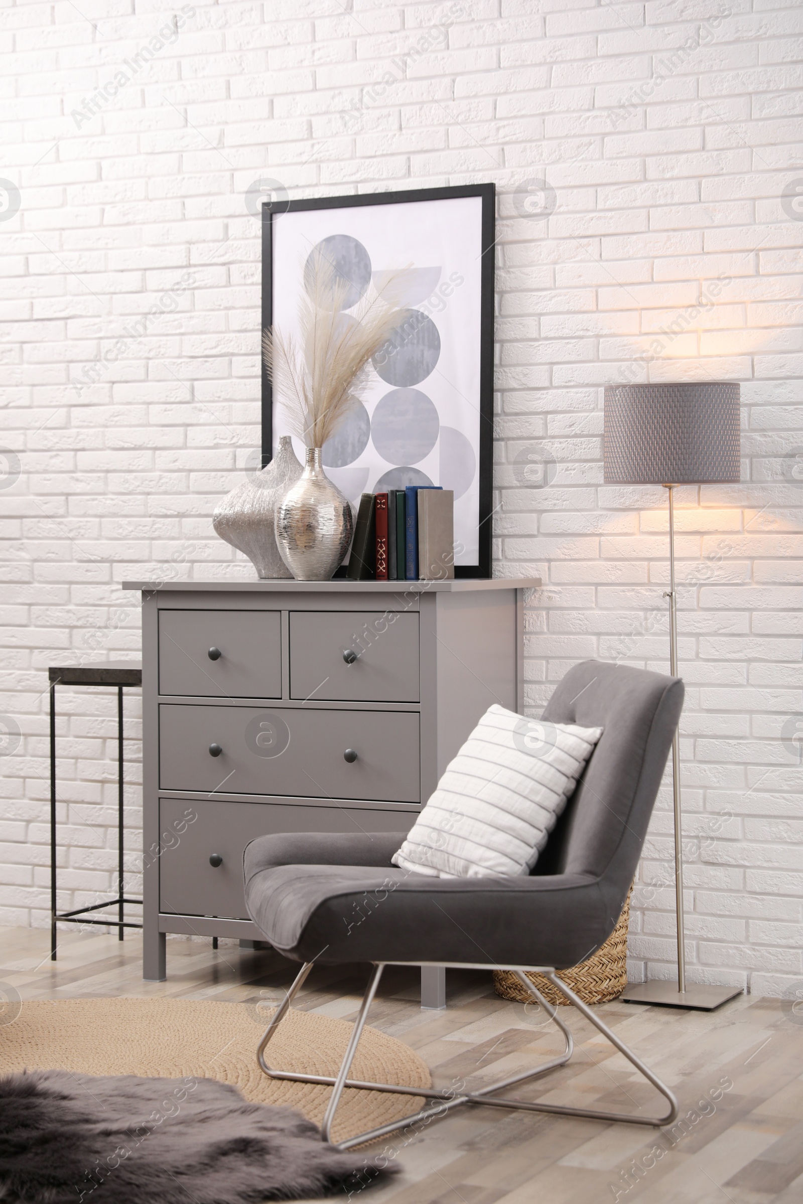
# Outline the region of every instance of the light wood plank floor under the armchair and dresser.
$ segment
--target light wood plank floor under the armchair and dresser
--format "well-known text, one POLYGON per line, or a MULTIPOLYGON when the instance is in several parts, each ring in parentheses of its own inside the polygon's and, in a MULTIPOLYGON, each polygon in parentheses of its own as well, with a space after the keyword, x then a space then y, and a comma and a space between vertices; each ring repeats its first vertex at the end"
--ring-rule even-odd
MULTIPOLYGON (((140 940, 67 932, 59 961, 49 933, 0 928, 0 992, 22 999, 87 996, 281 998, 295 967, 235 943, 169 939, 167 981, 143 982, 140 940)), ((355 1015, 366 967, 318 968, 299 1005, 355 1015)), ((365 1204, 801 1204, 803 1202, 803 1015, 777 999, 742 997, 710 1015, 606 1004, 606 1021, 680 1099, 673 1129, 459 1109, 384 1146, 401 1165, 365 1204)), ((661 1108, 662 1099, 572 1009, 571 1068, 522 1088, 522 1097, 585 1106, 661 1108)), ((0 1022, 1 1022, 0 1015, 0 1022)), ((537 1008, 506 1003, 489 974, 450 972, 448 1009, 421 1011, 418 973, 389 969, 371 1023, 418 1050, 438 1085, 485 1084, 557 1051, 537 1008)), ((356 1194, 352 1199, 356 1199, 356 1194)))

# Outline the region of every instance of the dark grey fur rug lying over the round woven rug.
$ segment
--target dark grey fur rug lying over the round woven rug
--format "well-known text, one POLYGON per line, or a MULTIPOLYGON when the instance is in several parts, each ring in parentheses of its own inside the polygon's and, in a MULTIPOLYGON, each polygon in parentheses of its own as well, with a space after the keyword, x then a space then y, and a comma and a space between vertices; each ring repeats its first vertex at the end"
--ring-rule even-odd
MULTIPOLYGON (((383 1159, 384 1161, 384 1159, 383 1159)), ((214 1079, 34 1070, 0 1080, 4 1204, 256 1204, 354 1196, 379 1170, 214 1079)))

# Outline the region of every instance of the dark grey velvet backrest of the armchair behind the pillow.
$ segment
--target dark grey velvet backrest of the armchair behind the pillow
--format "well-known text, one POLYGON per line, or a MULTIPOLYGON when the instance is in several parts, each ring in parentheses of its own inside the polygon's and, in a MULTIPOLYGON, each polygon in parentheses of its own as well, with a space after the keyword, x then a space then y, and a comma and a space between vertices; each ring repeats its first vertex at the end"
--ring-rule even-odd
POLYGON ((584 661, 568 671, 542 718, 604 730, 533 873, 592 874, 625 898, 683 696, 680 678, 626 665, 584 661))

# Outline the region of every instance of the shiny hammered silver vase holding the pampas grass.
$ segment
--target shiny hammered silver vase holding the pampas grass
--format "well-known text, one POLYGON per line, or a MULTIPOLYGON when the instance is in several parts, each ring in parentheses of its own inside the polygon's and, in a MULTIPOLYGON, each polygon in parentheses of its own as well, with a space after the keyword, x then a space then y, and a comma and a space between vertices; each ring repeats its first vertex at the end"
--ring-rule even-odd
POLYGON ((348 500, 324 472, 320 448, 307 448, 301 477, 276 508, 276 543, 297 582, 327 582, 354 532, 348 500))

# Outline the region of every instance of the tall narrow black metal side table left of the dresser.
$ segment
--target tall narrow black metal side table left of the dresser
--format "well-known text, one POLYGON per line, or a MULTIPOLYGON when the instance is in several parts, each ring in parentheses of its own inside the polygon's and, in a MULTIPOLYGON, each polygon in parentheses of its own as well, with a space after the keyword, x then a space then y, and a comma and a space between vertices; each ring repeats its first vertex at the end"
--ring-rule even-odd
POLYGON ((125 919, 126 903, 142 903, 142 899, 124 897, 123 890, 123 690, 125 686, 142 685, 141 661, 106 661, 100 665, 52 666, 48 669, 51 680, 51 961, 55 961, 57 921, 67 923, 94 923, 117 928, 118 939, 123 939, 124 928, 141 928, 125 919), (76 908, 75 911, 57 911, 55 881, 55 687, 57 685, 100 685, 117 687, 117 805, 118 805, 118 895, 104 903, 76 908), (84 920, 89 911, 99 911, 105 907, 117 907, 118 919, 111 916, 104 920, 84 920))

